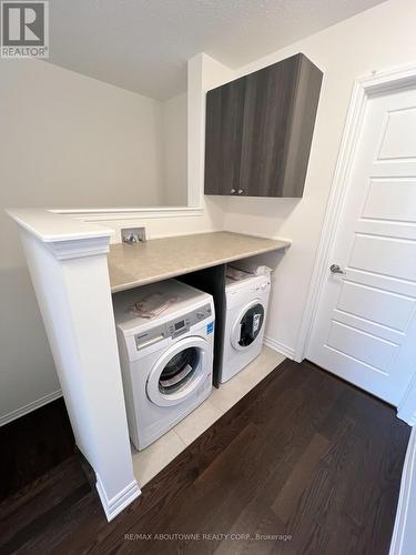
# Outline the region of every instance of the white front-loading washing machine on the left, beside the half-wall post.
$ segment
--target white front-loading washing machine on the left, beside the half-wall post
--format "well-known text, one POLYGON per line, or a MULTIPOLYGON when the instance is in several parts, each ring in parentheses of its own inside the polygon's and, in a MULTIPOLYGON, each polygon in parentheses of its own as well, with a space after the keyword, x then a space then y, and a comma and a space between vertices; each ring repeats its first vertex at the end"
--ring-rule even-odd
POLYGON ((214 304, 168 280, 116 293, 113 306, 130 438, 140 451, 210 395, 214 304), (143 315, 152 302, 159 309, 143 315))

